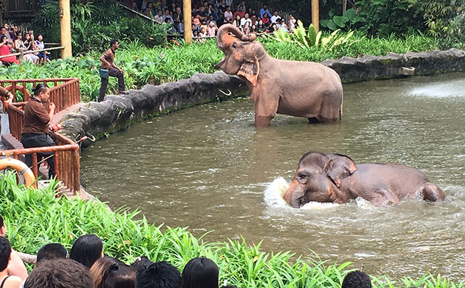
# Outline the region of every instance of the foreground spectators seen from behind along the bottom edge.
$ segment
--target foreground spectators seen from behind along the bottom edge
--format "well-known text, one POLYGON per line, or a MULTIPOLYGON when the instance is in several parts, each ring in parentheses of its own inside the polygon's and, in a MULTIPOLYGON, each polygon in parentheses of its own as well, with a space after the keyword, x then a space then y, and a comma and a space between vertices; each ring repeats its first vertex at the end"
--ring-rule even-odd
MULTIPOLYGON (((94 234, 78 237, 71 250, 59 243, 45 244, 37 251, 35 268, 28 275, 19 254, 10 246, 6 225, 0 216, 1 288, 219 288, 217 264, 196 257, 180 273, 168 262, 137 257, 128 265, 104 255, 103 242, 94 234)), ((236 286, 221 285, 225 288, 236 286)), ((352 271, 341 288, 371 288, 371 278, 352 271)), ((411 287, 414 288, 414 287, 411 287)))

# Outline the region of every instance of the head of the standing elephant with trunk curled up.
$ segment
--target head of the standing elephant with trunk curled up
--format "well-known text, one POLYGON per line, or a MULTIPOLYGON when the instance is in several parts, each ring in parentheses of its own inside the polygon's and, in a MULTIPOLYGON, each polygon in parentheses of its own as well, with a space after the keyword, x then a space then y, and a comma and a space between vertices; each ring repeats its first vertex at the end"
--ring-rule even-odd
POLYGON ((217 46, 226 57, 215 65, 215 69, 219 68, 226 74, 243 76, 255 86, 260 73, 260 60, 268 55, 261 43, 253 42, 255 37, 255 34, 242 33, 231 24, 221 26, 218 30, 217 46))

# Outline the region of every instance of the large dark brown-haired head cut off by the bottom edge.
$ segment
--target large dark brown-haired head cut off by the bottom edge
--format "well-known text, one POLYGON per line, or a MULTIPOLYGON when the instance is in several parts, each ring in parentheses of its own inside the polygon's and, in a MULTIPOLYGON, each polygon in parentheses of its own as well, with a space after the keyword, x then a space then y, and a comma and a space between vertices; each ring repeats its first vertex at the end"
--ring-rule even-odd
POLYGON ((24 288, 90 288, 94 287, 85 266, 69 259, 44 260, 24 282, 24 288))

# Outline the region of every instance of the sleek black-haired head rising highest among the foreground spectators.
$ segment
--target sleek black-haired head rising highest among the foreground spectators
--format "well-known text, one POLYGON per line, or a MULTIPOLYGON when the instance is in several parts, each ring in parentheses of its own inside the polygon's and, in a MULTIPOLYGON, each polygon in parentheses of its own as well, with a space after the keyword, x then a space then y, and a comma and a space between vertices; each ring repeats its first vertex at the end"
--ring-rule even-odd
POLYGON ((83 264, 87 269, 101 257, 103 257, 103 243, 95 234, 79 237, 69 251, 69 258, 83 264))

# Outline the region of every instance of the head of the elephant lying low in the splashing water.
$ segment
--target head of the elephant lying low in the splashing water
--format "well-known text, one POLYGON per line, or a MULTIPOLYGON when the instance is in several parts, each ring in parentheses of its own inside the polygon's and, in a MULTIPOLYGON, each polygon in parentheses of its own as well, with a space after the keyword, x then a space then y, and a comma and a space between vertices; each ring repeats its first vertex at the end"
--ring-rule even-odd
POLYGON ((355 171, 355 162, 346 155, 305 153, 284 199, 296 208, 311 201, 345 203, 350 195, 339 190, 341 180, 355 171))

